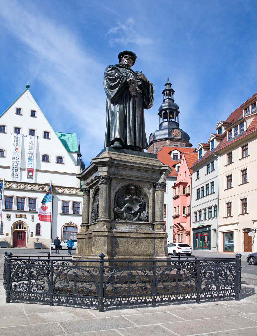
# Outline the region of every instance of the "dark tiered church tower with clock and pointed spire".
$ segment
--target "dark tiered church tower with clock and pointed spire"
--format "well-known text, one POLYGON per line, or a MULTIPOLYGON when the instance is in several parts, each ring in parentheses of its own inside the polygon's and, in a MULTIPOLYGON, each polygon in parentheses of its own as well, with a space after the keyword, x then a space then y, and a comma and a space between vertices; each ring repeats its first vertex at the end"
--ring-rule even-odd
POLYGON ((174 90, 169 78, 162 91, 163 102, 159 108, 159 129, 150 134, 148 153, 156 153, 162 146, 192 147, 189 135, 179 127, 179 107, 174 103, 174 90))

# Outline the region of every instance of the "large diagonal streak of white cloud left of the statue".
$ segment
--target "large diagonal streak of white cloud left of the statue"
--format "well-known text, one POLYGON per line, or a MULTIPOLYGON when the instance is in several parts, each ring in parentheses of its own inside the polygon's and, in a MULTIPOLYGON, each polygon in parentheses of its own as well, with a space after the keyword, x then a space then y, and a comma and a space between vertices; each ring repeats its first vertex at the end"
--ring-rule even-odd
POLYGON ((30 84, 39 80, 49 89, 49 97, 45 97, 48 103, 44 106, 44 99, 38 101, 47 119, 57 131, 77 131, 86 154, 84 160, 94 156, 104 141, 105 67, 79 45, 75 34, 35 12, 33 7, 27 10, 20 2, 4 2, 0 4, 0 15, 5 29, 31 53, 30 84), (72 125, 77 129, 71 130, 72 125), (88 143, 91 146, 86 148, 88 143))

